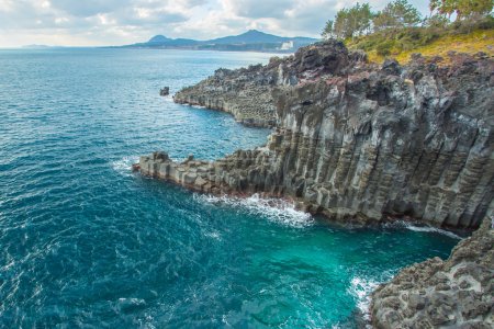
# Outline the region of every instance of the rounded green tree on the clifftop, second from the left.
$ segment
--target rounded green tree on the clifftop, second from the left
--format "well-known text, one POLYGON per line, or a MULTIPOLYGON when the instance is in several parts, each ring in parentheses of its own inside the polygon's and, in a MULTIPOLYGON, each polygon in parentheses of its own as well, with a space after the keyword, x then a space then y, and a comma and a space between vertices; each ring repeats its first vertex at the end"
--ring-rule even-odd
POLYGON ((374 20, 377 31, 415 26, 420 23, 420 13, 406 0, 394 0, 379 12, 374 20))

